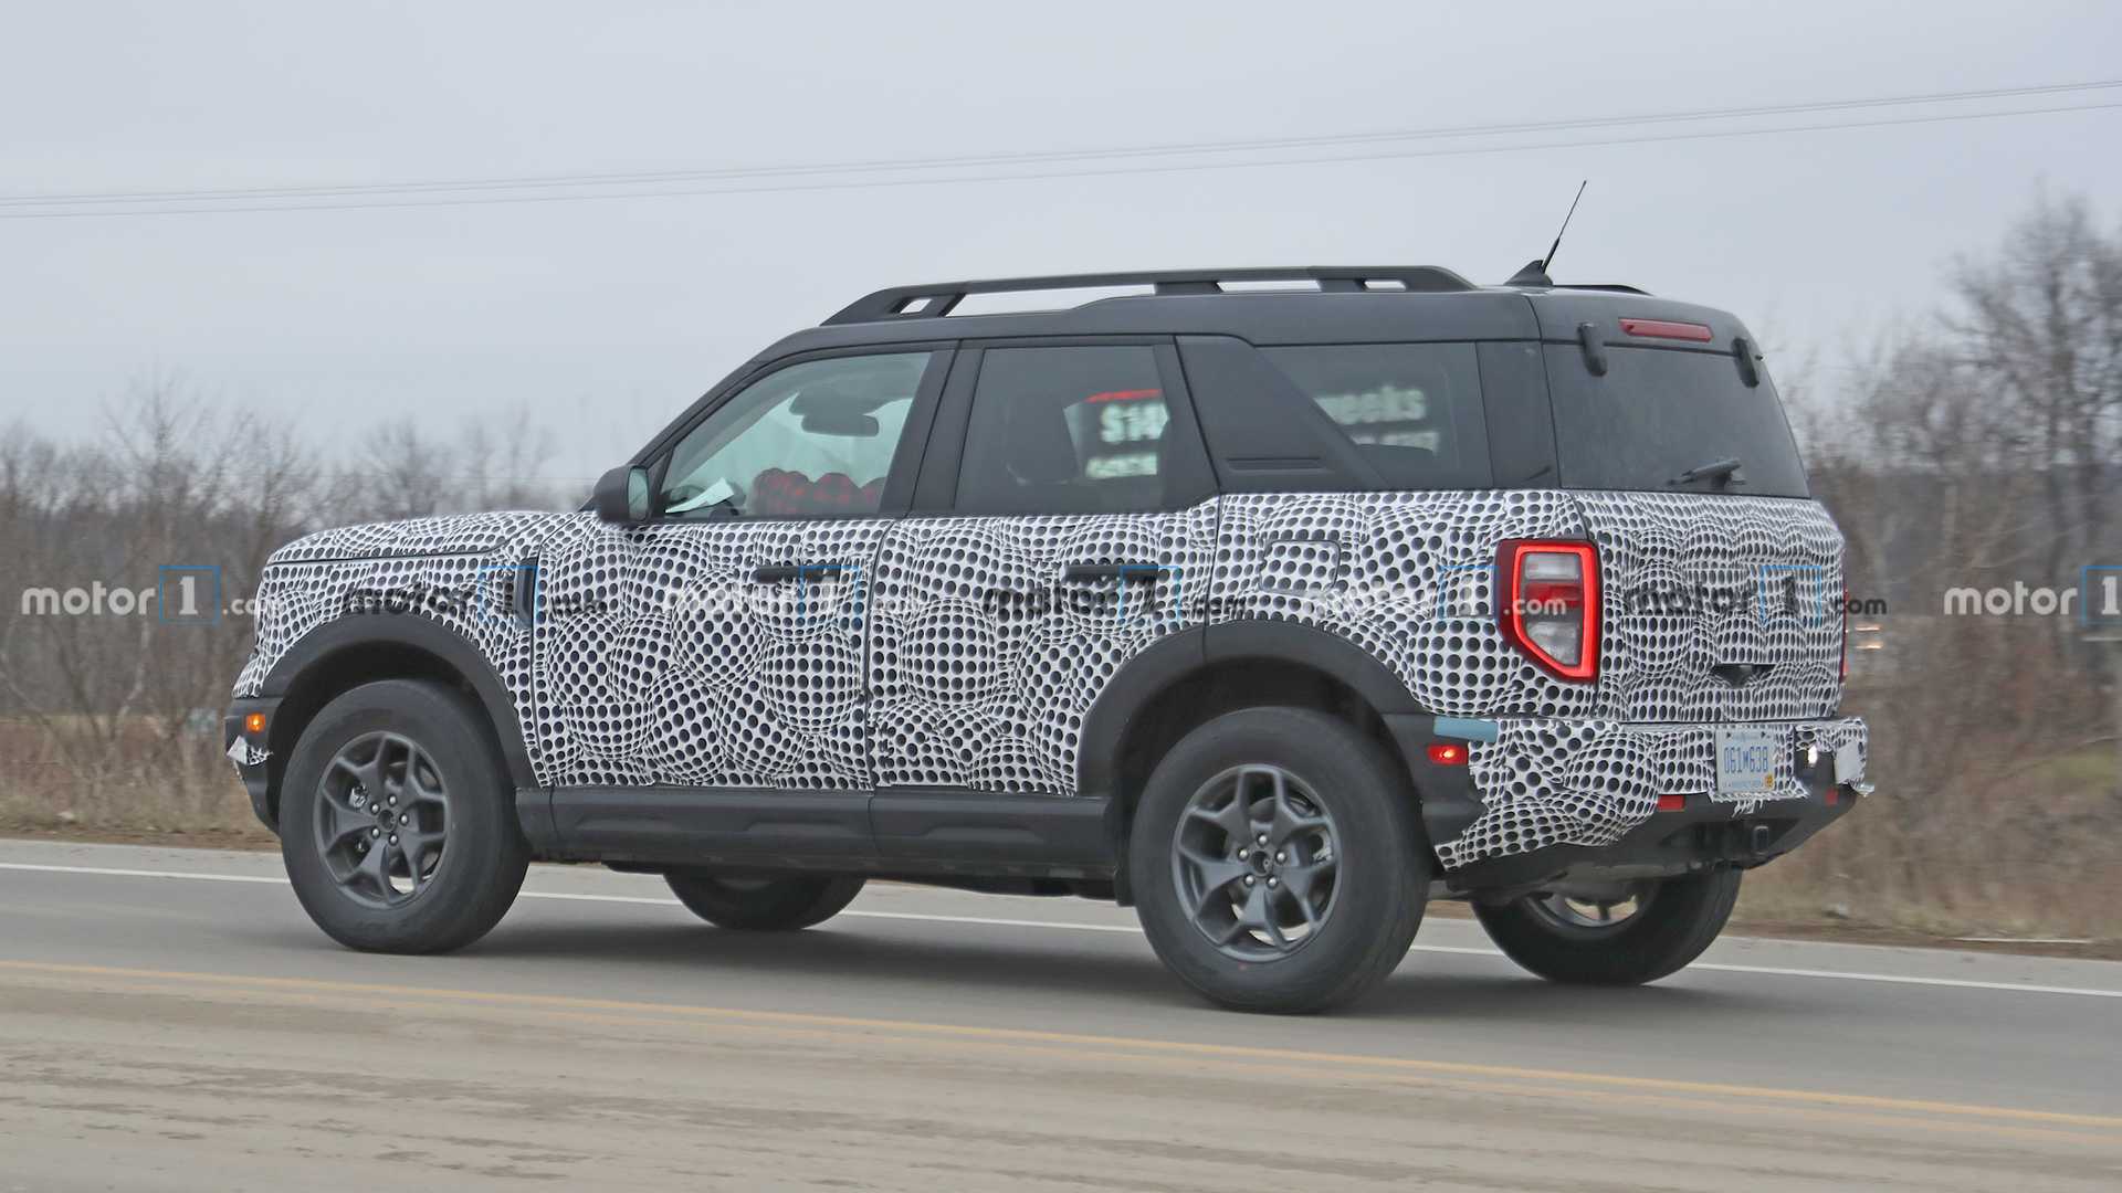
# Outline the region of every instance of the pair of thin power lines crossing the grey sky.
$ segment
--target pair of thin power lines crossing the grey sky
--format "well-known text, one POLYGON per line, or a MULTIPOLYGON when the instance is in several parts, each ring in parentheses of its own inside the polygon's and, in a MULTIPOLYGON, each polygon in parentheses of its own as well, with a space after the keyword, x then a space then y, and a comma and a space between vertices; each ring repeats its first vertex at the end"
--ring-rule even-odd
MULTIPOLYGON (((2086 91, 2086 89, 2111 89, 2122 87, 2122 81, 2111 83, 2077 83, 2077 85, 2054 85, 2041 91, 2086 91)), ((2033 89, 2020 89, 2033 91, 2033 89)), ((1973 93, 1967 93, 1973 96, 1973 93)), ((1838 100, 1829 104, 1791 104, 1791 110, 1842 110, 1855 106, 1891 106, 1891 104, 1918 104, 1918 102, 1942 102, 1942 98, 1880 98, 1880 100, 1838 100)), ((484 180, 484 183, 405 183, 405 185, 373 185, 373 187, 342 187, 342 189, 259 189, 259 191, 163 191, 161 200, 149 200, 146 195, 157 195, 151 191, 138 193, 140 197, 123 195, 83 195, 79 200, 62 197, 0 197, 0 221, 8 219, 115 219, 115 217, 159 217, 159 214, 246 214, 246 212, 297 212, 297 210, 376 210, 376 208, 456 208, 456 206, 488 206, 488 204, 556 204, 556 202, 596 202, 596 200, 656 200, 656 197, 681 197, 681 195, 766 195, 766 193, 792 193, 792 191, 847 191, 847 189, 885 189, 885 187, 936 187, 951 183, 1014 183, 1014 180, 1042 180, 1042 178, 1099 178, 1118 174, 1184 174, 1203 170, 1254 170, 1254 168, 1280 168, 1280 166, 1335 166, 1345 161, 1392 161, 1392 159, 1417 159, 1417 157, 1462 157, 1462 155, 1490 155, 1490 153, 1532 153, 1549 149, 1598 149, 1598 146, 1619 146, 1619 144, 1655 144, 1655 142, 1676 142, 1676 140, 1721 140, 1740 136, 1778 136, 1778 134, 1804 134, 1804 132, 1842 132, 1842 129, 1872 129, 1872 127, 1903 127, 1903 125, 1935 125, 1935 123, 1959 123, 1959 121, 1984 121, 1984 119, 2005 119, 2005 117, 2043 117, 2063 113, 2097 113, 2122 108, 2122 100, 2099 102, 2099 104, 2063 104, 2050 108, 2003 108, 1986 113, 1935 113, 1916 117, 1882 117, 1869 121, 1831 121, 1831 123, 1806 123, 1806 125, 1780 125, 1780 127, 1742 127, 1742 129, 1708 129, 1708 132, 1676 132, 1676 134, 1651 134, 1651 136, 1619 136, 1619 138, 1589 138, 1589 140, 1549 140, 1549 142, 1528 142, 1528 144, 1479 144, 1479 146, 1449 146, 1449 149, 1401 149, 1401 151, 1377 151, 1377 153, 1339 153, 1339 155, 1307 155, 1307 157, 1265 157, 1265 159, 1243 159, 1243 161, 1173 161, 1173 163, 1125 163, 1106 166, 1091 170, 1010 170, 1010 172, 989 172, 989 174, 946 174, 946 176, 915 176, 915 178, 821 178, 821 180, 800 180, 800 183, 779 183, 766 187, 685 187, 685 189, 662 189, 662 191, 594 191, 594 193, 533 193, 533 195, 473 195, 473 197, 439 197, 439 200, 380 200, 380 202, 344 202, 344 204, 318 204, 318 202, 291 202, 291 204, 233 204, 233 206, 112 206, 104 210, 4 210, 4 208, 34 208, 40 204, 142 204, 142 202, 212 202, 210 197, 299 197, 303 193, 316 193, 318 197, 337 195, 395 195, 395 193, 418 193, 420 189, 439 191, 463 191, 463 189, 488 189, 488 187, 590 187, 590 185, 618 185, 622 176, 592 176, 584 174, 581 180, 560 183, 560 180, 484 180)), ((1740 113, 1732 108, 1729 113, 1740 113)), ((1530 129, 1583 129, 1583 127, 1617 127, 1632 123, 1670 123, 1670 121, 1700 121, 1700 119, 1734 119, 1725 113, 1672 113, 1653 117, 1598 117, 1589 121, 1551 121, 1545 125, 1492 125, 1492 129, 1513 127, 1519 132, 1530 129)), ((1483 129, 1432 129, 1432 132, 1409 132, 1409 134, 1350 134, 1343 138, 1288 138, 1284 142, 1224 142, 1214 149, 1118 149, 1118 151, 1069 151, 1063 155, 1019 155, 1021 161, 1072 161, 1072 159, 1125 159, 1142 157, 1154 153, 1233 153, 1239 149, 1265 149, 1275 144, 1303 144, 1303 146, 1333 146, 1343 142, 1364 142, 1364 140, 1415 140, 1415 138, 1458 138, 1458 136, 1496 136, 1483 129)), ((946 163, 976 159, 929 159, 927 163, 879 163, 879 166, 775 166, 775 168, 743 168, 730 172, 690 172, 671 174, 673 178, 709 178, 726 176, 732 180, 745 180, 753 176, 787 176, 787 174, 828 174, 828 172, 859 172, 859 170, 940 170, 946 163)), ((651 176, 628 176, 628 178, 651 178, 651 176)))

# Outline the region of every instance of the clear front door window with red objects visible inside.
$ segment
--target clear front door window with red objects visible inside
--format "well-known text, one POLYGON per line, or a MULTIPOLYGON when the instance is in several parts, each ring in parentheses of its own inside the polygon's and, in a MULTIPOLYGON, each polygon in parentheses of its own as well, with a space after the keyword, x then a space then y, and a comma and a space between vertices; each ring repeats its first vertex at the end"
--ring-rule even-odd
POLYGON ((679 439, 658 507, 677 518, 876 514, 934 352, 777 369, 679 439))

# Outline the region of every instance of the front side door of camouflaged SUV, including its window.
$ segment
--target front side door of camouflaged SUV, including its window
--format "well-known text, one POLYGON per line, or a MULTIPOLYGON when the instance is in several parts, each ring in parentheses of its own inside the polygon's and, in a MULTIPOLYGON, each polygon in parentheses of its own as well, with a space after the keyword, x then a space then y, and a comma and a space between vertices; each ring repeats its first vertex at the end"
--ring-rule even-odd
POLYGON ((545 543, 530 684, 547 785, 872 785, 870 569, 949 359, 770 367, 641 461, 651 522, 579 514, 545 543))

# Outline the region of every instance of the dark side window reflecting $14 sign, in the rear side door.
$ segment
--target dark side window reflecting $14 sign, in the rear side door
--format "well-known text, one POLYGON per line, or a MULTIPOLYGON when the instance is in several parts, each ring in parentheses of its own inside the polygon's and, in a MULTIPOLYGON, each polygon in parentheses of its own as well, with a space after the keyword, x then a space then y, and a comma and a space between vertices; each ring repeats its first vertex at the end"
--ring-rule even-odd
POLYGON ((966 427, 957 507, 1161 509, 1169 418, 1150 346, 989 348, 966 427))

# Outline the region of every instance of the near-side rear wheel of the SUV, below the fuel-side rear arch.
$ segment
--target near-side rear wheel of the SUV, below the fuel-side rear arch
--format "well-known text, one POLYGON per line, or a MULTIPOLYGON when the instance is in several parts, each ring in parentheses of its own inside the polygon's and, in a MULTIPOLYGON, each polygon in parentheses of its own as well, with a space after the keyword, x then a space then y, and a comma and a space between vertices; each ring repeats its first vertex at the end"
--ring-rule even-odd
POLYGON ((1309 709, 1241 709, 1173 745, 1127 864, 1150 947, 1235 1010, 1301 1015, 1369 991, 1407 955, 1430 889, 1401 766, 1309 709))

